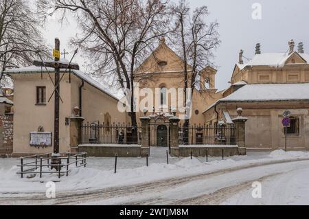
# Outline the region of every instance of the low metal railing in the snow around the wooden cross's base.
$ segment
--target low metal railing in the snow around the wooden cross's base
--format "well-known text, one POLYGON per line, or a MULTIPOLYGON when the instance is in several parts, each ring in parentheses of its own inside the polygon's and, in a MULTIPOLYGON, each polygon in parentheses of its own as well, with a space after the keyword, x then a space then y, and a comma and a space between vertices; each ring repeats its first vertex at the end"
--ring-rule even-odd
POLYGON ((69 176, 69 167, 75 166, 76 168, 84 167, 87 165, 87 153, 66 153, 61 154, 61 157, 54 158, 52 154, 38 154, 29 157, 18 158, 21 164, 17 165, 21 168, 21 178, 25 174, 58 174, 60 178, 61 174, 69 176), (55 161, 52 163, 52 161, 55 161), (56 171, 52 169, 55 168, 56 171))

